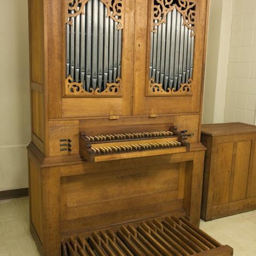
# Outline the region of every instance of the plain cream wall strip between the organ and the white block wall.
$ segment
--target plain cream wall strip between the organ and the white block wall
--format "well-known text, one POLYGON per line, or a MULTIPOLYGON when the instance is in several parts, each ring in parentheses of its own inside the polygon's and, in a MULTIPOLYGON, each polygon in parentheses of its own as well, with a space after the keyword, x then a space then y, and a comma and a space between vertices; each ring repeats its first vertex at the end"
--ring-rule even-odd
POLYGON ((207 43, 203 123, 223 123, 233 0, 212 0, 207 43))

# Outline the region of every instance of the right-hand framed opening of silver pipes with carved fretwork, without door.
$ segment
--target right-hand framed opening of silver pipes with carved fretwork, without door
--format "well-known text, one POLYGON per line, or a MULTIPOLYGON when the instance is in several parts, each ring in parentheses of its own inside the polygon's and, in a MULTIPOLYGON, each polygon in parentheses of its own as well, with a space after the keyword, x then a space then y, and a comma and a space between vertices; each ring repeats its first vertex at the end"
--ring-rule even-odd
POLYGON ((192 95, 196 0, 151 6, 149 96, 192 95))

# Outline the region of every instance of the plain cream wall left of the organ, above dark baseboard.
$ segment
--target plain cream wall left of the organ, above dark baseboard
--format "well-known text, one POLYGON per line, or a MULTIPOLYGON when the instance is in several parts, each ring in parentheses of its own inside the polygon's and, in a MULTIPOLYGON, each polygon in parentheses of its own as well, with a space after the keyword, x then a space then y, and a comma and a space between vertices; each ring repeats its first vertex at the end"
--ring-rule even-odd
MULTIPOLYGON (((3 2, 3 1, 0 1, 3 2)), ((28 187, 30 141, 28 4, 9 0, 0 15, 0 191, 28 187)))

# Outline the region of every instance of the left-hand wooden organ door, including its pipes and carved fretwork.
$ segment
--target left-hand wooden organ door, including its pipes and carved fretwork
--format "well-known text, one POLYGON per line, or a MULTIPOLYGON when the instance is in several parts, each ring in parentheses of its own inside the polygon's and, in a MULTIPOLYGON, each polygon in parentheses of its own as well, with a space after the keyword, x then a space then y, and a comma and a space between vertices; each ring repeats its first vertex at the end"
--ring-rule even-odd
POLYGON ((131 115, 134 1, 48 2, 50 117, 131 115))

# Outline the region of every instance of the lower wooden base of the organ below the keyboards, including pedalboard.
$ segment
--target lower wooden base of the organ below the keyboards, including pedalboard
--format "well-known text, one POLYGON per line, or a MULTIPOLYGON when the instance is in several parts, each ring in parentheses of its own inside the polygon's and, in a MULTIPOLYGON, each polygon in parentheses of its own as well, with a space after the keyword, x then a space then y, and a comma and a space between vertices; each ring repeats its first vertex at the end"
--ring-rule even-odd
POLYGON ((30 144, 30 231, 38 250, 47 256, 233 255, 197 228, 203 149, 90 163, 78 156, 47 159, 30 144))

